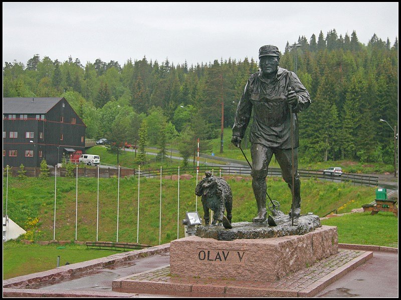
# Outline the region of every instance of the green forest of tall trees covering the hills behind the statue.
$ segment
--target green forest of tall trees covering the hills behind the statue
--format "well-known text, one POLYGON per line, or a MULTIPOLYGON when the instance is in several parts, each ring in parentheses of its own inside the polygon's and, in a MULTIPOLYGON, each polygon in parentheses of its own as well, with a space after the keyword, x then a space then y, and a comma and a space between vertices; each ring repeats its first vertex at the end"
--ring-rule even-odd
MULTIPOLYGON (((312 100, 298 115, 300 157, 392 164, 394 132, 379 120, 397 124, 397 38, 391 44, 373 34, 365 45, 355 31, 342 36, 332 29, 300 36, 280 50, 280 66, 296 72, 312 100)), ((196 138, 205 141, 202 152, 219 136, 222 102, 224 127, 232 127, 247 79, 257 70, 258 61, 248 57, 196 65, 98 58, 84 65, 71 56, 59 61, 34 54, 27 65, 5 63, 3 96, 64 96, 87 125, 86 138, 157 145, 160 154, 168 143, 182 155, 189 145, 189 156, 196 138)))

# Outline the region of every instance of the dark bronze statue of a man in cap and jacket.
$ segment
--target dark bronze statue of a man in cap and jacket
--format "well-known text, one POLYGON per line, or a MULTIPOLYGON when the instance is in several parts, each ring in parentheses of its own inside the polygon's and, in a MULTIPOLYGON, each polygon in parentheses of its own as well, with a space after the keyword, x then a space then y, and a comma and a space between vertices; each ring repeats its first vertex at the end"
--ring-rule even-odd
POLYGON ((231 141, 237 147, 241 146, 253 109, 251 175, 258 205, 254 221, 263 222, 266 220, 266 176, 273 154, 280 164, 284 180, 293 191, 294 207, 291 206, 289 214, 291 216, 293 211, 294 216, 299 216, 301 213, 297 113, 306 109, 311 101, 297 75, 279 67, 280 52, 276 46, 262 46, 259 59, 260 69, 249 77, 238 103, 231 141))

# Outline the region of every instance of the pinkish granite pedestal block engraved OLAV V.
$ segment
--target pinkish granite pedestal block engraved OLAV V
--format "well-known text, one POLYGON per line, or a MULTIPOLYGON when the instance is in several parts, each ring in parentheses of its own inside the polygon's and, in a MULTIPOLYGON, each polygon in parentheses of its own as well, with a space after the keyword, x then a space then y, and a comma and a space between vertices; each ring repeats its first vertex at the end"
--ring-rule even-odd
POLYGON ((304 235, 217 240, 189 236, 171 241, 170 272, 180 277, 276 281, 338 252, 337 228, 304 235))

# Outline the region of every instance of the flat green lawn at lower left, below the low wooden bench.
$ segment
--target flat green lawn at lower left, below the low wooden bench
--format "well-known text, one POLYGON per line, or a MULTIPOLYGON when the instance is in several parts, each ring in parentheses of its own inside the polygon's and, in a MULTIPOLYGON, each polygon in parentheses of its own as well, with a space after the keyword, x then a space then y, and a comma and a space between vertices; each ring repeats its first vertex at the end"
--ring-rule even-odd
POLYGON ((60 265, 100 258, 121 251, 88 249, 85 245, 67 244, 60 246, 24 244, 14 240, 3 246, 3 279, 41 272, 57 267, 57 256, 60 265))

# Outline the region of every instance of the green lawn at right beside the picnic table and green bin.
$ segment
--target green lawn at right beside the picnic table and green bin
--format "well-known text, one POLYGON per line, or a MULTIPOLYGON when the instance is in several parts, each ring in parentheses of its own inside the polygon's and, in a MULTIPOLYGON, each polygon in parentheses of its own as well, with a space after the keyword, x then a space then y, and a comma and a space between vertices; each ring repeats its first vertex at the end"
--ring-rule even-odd
POLYGON ((398 247, 398 218, 391 212, 350 213, 322 220, 337 226, 338 242, 398 247))

